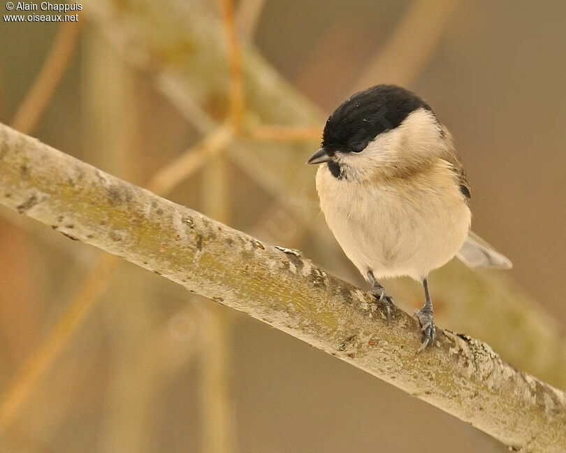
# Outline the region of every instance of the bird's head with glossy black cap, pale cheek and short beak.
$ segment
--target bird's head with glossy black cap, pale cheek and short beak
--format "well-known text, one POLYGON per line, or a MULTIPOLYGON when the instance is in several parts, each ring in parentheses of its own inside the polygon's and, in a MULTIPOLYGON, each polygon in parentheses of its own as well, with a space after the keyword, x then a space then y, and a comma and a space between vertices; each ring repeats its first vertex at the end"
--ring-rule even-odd
POLYGON ((343 180, 403 176, 444 152, 450 140, 419 96, 395 85, 376 85, 334 110, 320 150, 307 163, 326 163, 343 180))

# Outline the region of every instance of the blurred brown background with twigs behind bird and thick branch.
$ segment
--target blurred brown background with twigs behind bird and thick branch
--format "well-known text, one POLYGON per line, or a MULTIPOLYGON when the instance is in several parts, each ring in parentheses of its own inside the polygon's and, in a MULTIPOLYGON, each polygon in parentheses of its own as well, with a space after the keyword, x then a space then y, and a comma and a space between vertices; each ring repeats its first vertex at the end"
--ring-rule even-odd
MULTIPOLYGON (((437 324, 566 389, 566 3, 82 6, 68 13, 78 23, 0 22, 1 122, 365 288, 304 162, 349 94, 404 85, 456 140, 474 231, 514 262, 507 273, 458 263, 433 273, 437 324), (226 118, 236 138, 199 146, 226 118)), ((0 452, 507 451, 2 206, 0 275, 0 452)), ((419 285, 385 286, 402 308, 422 305, 419 285)))

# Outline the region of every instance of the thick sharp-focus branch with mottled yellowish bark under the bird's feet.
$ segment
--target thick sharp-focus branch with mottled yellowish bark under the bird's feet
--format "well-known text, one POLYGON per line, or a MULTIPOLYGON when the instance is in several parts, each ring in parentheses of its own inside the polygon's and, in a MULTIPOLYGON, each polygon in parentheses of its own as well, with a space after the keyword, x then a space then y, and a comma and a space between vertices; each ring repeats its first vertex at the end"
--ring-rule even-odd
POLYGON ((314 345, 532 452, 566 450, 566 395, 450 331, 415 357, 416 321, 291 250, 263 245, 0 124, 0 203, 314 345))

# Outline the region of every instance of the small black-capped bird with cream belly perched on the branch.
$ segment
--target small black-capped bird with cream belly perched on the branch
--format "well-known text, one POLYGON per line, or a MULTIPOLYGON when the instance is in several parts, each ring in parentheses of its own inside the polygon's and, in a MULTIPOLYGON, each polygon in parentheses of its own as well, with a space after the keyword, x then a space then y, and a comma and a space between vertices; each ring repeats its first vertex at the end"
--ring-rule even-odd
POLYGON ((317 192, 328 227, 382 304, 380 285, 402 275, 422 282, 421 350, 435 343, 428 273, 454 256, 472 268, 511 268, 511 261, 470 231, 470 185, 452 137, 416 94, 377 85, 344 101, 328 118, 317 192))

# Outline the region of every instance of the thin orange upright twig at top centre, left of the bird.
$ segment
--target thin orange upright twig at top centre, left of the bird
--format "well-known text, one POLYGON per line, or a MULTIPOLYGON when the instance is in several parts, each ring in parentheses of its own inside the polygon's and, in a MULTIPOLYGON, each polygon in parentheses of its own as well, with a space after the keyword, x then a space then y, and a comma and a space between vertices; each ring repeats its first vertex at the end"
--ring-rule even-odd
POLYGON ((230 70, 230 120, 235 131, 240 130, 244 113, 244 80, 242 76, 242 54, 234 17, 232 0, 221 0, 222 23, 226 34, 228 67, 230 70))

